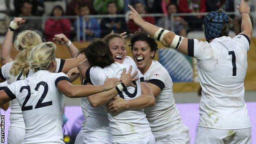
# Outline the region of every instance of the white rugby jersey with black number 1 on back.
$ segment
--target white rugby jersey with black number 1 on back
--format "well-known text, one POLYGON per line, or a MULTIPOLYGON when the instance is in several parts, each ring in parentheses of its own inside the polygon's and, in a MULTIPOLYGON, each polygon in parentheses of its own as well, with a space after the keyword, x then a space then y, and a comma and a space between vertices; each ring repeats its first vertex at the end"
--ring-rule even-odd
POLYGON ((198 126, 228 130, 251 127, 244 100, 249 45, 243 34, 233 39, 215 38, 210 43, 188 40, 188 55, 197 59, 202 87, 198 126))

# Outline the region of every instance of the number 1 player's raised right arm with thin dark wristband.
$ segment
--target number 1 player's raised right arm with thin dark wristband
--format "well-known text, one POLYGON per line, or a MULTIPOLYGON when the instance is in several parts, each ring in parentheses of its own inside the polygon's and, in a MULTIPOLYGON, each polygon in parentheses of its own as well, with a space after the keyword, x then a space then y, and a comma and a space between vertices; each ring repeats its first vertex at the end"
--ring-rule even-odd
POLYGON ((244 0, 241 0, 240 6, 236 7, 241 14, 242 17, 242 23, 241 23, 241 33, 245 34, 251 39, 252 37, 252 24, 251 19, 249 16, 250 13, 250 7, 247 3, 244 2, 244 0))

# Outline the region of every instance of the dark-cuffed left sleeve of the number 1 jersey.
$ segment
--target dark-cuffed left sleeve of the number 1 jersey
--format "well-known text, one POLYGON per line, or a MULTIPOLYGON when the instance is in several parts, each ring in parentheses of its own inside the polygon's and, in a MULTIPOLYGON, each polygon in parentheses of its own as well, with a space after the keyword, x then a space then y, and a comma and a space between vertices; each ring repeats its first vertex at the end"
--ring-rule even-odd
POLYGON ((208 42, 199 41, 198 39, 188 39, 187 53, 190 57, 202 59, 206 55, 211 55, 212 49, 208 42))

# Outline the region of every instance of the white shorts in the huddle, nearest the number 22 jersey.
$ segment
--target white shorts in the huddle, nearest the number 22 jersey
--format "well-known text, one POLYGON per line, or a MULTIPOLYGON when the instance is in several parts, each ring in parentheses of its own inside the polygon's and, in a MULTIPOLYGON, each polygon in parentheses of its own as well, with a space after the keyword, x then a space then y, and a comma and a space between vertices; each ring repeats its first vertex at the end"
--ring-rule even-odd
POLYGON ((110 137, 87 135, 80 131, 75 138, 75 144, 110 144, 110 137))

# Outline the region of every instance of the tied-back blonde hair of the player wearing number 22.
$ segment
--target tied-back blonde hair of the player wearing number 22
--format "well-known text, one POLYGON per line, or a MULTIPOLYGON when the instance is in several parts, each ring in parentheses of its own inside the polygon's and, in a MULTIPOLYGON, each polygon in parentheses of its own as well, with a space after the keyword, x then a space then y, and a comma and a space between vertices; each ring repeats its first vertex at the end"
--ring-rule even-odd
POLYGON ((29 66, 32 71, 46 70, 55 60, 56 45, 53 42, 41 43, 30 52, 29 66))

